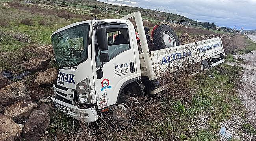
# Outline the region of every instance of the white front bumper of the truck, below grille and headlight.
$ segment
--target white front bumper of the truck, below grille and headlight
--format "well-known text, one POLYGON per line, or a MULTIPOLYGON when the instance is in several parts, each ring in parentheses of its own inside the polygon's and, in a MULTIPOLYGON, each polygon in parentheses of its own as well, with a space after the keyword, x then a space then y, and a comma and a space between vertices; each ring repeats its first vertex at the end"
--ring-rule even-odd
POLYGON ((75 105, 65 103, 56 98, 51 98, 51 99, 54 104, 57 103, 58 105, 67 107, 67 112, 63 112, 63 113, 67 114, 70 117, 73 117, 79 121, 83 121, 86 123, 91 123, 91 122, 98 120, 98 114, 96 112, 95 106, 91 107, 91 108, 87 108, 87 109, 80 109, 80 108, 76 107, 75 105))

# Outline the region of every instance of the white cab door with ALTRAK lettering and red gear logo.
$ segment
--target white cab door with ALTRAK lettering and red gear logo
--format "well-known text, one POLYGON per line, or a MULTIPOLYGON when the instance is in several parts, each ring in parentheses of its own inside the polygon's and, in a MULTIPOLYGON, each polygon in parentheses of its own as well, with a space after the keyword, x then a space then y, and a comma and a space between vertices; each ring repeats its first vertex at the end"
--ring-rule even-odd
MULTIPOLYGON (((104 67, 102 68, 103 78, 97 79, 96 70, 100 68, 101 62, 99 60, 100 53, 96 45, 94 47, 95 51, 92 52, 93 75, 98 109, 113 105, 117 102, 117 96, 122 84, 126 81, 136 79, 138 76, 137 69, 139 69, 140 76, 140 68, 136 68, 135 62, 139 61, 138 52, 136 52, 136 58, 138 58, 138 60, 135 60, 135 30, 133 26, 133 31, 128 28, 128 24, 130 23, 123 22, 118 25, 98 27, 106 28, 108 50, 102 51, 102 53, 108 52, 109 54, 109 62, 104 63, 104 67), (134 34, 134 36, 131 36, 132 34, 134 34)), ((95 36, 95 31, 93 31, 93 36, 95 36)), ((92 40, 92 43, 96 43, 95 39, 92 40)))

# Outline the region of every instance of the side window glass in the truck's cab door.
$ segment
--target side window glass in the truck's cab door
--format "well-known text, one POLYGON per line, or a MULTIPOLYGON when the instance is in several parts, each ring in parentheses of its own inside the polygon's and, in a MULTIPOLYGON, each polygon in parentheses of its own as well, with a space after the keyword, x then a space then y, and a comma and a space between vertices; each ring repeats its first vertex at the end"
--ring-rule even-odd
MULTIPOLYGON (((129 34, 127 28, 109 28, 106 29, 107 36, 108 36, 108 50, 102 51, 102 53, 108 53, 109 60, 115 58, 118 54, 127 51, 130 49, 130 43, 129 43, 129 34)), ((96 47, 96 46, 95 46, 96 47)), ((96 56, 96 67, 101 66, 100 62, 100 52, 98 49, 95 49, 96 56)))

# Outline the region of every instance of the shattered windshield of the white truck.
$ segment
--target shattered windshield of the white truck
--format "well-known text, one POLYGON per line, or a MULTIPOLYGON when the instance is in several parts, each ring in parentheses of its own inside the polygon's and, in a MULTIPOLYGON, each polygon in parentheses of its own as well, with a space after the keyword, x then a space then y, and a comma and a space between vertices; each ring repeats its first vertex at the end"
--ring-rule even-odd
POLYGON ((52 35, 55 58, 61 67, 87 60, 89 24, 81 24, 52 35))

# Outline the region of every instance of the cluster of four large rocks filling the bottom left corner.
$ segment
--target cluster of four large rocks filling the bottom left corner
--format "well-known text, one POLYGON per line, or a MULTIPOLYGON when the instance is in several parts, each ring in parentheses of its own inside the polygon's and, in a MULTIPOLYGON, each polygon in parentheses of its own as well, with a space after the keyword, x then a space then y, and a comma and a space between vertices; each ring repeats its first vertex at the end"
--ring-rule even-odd
POLYGON ((50 124, 50 107, 31 101, 22 81, 0 89, 0 104, 4 107, 0 113, 0 141, 15 141, 21 134, 33 141, 45 134, 50 124))

